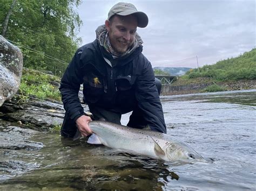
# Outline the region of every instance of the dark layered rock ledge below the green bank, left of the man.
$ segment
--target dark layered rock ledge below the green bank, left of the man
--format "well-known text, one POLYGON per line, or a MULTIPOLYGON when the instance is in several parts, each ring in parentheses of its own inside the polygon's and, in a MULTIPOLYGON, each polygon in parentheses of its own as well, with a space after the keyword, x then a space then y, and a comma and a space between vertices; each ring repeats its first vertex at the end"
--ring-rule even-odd
MULTIPOLYGON (((84 111, 89 111, 85 108, 84 111)), ((17 101, 4 103, 0 108, 0 118, 6 122, 19 121, 19 126, 35 130, 49 130, 57 125, 62 125, 65 110, 63 104, 57 101, 38 100, 31 97, 30 100, 23 104, 17 104, 17 101)))

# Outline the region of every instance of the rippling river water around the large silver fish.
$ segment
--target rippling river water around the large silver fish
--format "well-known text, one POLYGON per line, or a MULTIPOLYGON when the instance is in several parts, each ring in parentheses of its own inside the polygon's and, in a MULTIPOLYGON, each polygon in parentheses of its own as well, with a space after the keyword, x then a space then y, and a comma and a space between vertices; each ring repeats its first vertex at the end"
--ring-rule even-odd
POLYGON ((256 189, 256 90, 163 96, 161 102, 167 134, 213 161, 174 165, 38 133, 31 140, 43 148, 12 153, 38 168, 0 181, 0 189, 256 189))

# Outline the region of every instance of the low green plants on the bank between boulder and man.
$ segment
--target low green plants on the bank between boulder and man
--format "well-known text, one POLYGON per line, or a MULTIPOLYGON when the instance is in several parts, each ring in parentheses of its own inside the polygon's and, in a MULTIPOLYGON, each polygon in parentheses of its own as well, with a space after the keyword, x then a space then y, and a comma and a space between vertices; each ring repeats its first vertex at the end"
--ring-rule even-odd
POLYGON ((29 96, 60 101, 58 90, 59 77, 31 69, 23 69, 21 86, 19 86, 19 102, 25 102, 29 96))

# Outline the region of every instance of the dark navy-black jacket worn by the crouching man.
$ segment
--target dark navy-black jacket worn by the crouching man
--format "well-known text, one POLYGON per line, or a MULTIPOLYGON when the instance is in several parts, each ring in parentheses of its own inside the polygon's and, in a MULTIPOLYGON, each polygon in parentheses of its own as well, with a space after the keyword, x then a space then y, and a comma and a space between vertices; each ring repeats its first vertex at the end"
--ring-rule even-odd
POLYGON ((77 50, 59 88, 66 116, 72 121, 84 114, 78 98, 82 83, 84 101, 90 106, 116 109, 124 114, 138 104, 151 130, 166 133, 153 69, 142 54, 142 46, 117 59, 99 46, 97 39, 77 50))

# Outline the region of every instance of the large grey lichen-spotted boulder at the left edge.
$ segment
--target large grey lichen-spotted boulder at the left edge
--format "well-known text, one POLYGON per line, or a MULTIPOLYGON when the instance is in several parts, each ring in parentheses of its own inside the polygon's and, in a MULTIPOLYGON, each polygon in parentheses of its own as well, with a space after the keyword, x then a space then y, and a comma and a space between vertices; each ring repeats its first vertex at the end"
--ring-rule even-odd
POLYGON ((21 83, 22 67, 21 50, 0 35, 0 107, 17 92, 21 83))

